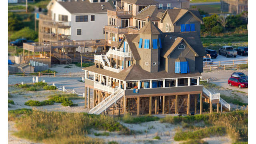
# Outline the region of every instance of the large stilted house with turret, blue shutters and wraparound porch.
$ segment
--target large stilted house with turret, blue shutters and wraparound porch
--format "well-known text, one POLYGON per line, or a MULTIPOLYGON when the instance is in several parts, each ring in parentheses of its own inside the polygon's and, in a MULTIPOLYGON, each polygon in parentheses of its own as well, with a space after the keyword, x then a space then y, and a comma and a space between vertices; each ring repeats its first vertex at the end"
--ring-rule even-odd
POLYGON ((162 32, 148 17, 137 34, 124 34, 115 50, 83 68, 90 113, 193 114, 198 104, 202 113, 203 99, 218 109, 220 95, 199 83, 204 55, 197 32, 162 32))

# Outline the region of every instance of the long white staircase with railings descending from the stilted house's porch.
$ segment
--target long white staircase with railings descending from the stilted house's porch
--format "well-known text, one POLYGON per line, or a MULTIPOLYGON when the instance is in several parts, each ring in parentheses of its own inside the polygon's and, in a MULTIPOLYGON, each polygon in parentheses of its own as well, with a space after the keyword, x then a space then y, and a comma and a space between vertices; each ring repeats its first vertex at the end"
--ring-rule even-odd
POLYGON ((90 114, 100 114, 102 113, 104 110, 106 110, 109 106, 111 106, 112 104, 114 104, 117 100, 119 100, 120 98, 122 98, 122 96, 124 96, 124 90, 123 89, 118 89, 115 92, 113 92, 112 94, 110 94, 110 96, 108 96, 107 98, 105 98, 102 102, 100 102, 100 104, 98 104, 97 106, 95 106, 94 108, 92 108, 89 113, 90 114))

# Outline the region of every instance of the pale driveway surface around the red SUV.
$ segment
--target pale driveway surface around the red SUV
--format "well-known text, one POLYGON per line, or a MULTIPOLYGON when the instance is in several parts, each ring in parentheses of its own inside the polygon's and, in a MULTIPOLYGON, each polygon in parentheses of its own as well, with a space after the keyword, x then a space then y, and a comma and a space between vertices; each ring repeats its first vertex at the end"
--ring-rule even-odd
MULTIPOLYGON (((202 76, 203 78, 210 78, 210 77, 215 77, 218 78, 216 81, 211 81, 213 84, 217 84, 218 86, 222 86, 224 88, 229 88, 232 90, 239 90, 242 92, 248 93, 248 88, 238 88, 236 86, 229 86, 228 85, 228 78, 230 78, 233 70, 216 70, 212 72, 203 72, 202 76)), ((244 74, 248 75, 248 71, 246 70, 241 70, 244 74)))

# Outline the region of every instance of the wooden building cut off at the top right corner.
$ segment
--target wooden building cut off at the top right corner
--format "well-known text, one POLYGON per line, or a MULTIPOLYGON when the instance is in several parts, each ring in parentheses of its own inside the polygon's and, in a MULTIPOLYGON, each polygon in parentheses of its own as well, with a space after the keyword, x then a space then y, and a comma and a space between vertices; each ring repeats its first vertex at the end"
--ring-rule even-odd
POLYGON ((248 12, 248 0, 220 0, 221 12, 240 14, 248 12))

